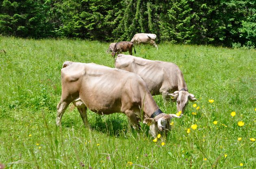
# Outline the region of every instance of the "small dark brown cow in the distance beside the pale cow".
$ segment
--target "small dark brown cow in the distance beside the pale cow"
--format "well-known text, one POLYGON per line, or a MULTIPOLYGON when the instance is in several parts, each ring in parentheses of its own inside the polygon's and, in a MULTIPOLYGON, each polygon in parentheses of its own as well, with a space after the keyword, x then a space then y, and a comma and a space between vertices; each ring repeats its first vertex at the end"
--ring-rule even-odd
MULTIPOLYGON (((117 42, 112 52, 112 56, 115 57, 116 53, 118 54, 118 53, 127 52, 127 51, 129 51, 130 55, 132 55, 132 47, 134 47, 133 42, 127 42, 127 41, 117 42)), ((135 47, 134 47, 134 53, 136 54, 135 47)))

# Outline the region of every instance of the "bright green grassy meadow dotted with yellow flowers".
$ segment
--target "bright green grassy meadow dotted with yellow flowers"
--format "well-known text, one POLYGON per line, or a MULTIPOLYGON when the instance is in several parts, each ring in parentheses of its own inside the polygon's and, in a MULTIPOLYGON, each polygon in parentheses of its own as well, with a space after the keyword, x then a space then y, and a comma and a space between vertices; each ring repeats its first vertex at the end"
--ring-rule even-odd
MULTIPOLYGON (((135 46, 135 56, 177 64, 198 99, 173 119, 164 143, 153 142, 143 124, 139 136, 127 131, 124 114, 87 111, 91 129, 86 129, 71 106, 62 127, 56 127, 63 62, 113 68, 107 48, 97 41, 0 36, 0 50, 6 51, 0 52, 0 164, 7 169, 256 168, 255 50, 167 42, 158 50, 135 46)), ((176 113, 176 103, 164 106, 160 95, 154 99, 163 112, 176 113)))

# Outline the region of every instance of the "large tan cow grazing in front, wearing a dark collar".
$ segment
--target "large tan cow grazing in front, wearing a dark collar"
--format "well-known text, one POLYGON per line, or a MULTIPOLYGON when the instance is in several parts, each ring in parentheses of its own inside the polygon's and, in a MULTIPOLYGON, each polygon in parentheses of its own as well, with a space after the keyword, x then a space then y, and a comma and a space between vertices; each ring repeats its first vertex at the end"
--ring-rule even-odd
POLYGON ((108 68, 94 63, 65 61, 61 69, 62 93, 57 106, 56 125, 67 106, 73 102, 85 124, 87 108, 98 114, 124 113, 134 129, 139 129, 139 119, 152 123, 150 133, 156 137, 158 130, 169 129, 169 121, 176 114, 163 113, 154 101, 146 83, 137 74, 108 68), (143 110, 143 114, 141 114, 143 110))

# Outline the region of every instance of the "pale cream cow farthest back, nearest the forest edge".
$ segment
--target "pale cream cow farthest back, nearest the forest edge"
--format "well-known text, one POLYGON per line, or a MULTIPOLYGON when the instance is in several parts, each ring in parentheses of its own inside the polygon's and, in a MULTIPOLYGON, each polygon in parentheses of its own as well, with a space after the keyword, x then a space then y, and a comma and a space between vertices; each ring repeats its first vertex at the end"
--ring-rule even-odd
POLYGON ((156 42, 156 35, 155 34, 145 34, 145 33, 139 33, 139 34, 135 34, 131 40, 131 42, 133 42, 134 44, 151 44, 154 45, 156 47, 156 49, 158 49, 156 42))

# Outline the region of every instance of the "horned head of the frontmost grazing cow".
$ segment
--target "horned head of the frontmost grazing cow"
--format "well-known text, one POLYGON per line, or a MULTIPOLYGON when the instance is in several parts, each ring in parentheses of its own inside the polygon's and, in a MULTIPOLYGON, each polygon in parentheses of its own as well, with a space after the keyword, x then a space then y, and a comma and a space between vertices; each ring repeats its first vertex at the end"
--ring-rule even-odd
POLYGON ((165 114, 161 113, 154 118, 145 118, 143 123, 150 125, 150 134, 153 137, 156 137, 158 131, 168 131, 171 129, 171 118, 181 118, 181 116, 177 116, 176 114, 165 114))

